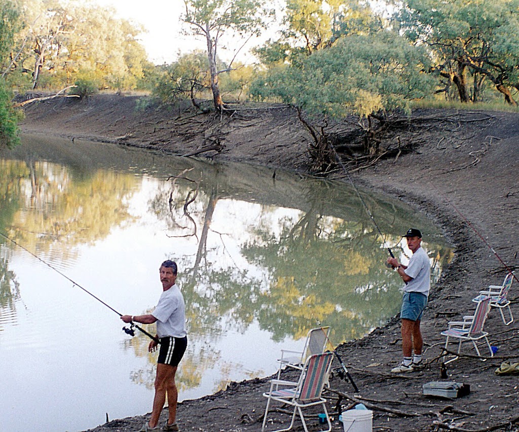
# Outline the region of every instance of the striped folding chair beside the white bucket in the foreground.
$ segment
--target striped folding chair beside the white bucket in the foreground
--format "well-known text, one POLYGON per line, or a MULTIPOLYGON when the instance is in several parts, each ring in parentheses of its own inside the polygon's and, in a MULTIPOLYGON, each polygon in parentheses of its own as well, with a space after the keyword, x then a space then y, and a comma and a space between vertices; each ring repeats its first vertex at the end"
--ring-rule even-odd
POLYGON ((326 432, 332 430, 330 416, 326 410, 326 399, 321 396, 324 384, 327 383, 328 376, 330 375, 332 360, 333 353, 331 352, 312 355, 305 361, 301 376, 299 376, 297 383, 284 380, 270 381, 270 390, 268 393, 263 394, 263 396, 267 398, 267 406, 265 408, 265 415, 263 416, 262 431, 265 430, 267 424, 268 409, 271 401, 278 401, 294 407, 290 426, 284 429, 277 429, 274 432, 292 429, 296 413, 301 417, 303 429, 305 432, 308 432, 303 409, 317 405, 322 405, 322 409, 326 415, 326 421, 328 423, 328 429, 326 429, 326 432))

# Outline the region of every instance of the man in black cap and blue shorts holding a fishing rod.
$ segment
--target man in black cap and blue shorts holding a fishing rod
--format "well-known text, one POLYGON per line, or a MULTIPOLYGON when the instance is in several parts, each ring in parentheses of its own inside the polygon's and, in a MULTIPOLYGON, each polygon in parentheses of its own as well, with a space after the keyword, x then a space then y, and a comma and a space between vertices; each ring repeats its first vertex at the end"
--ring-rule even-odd
POLYGON ((387 260, 405 282, 400 311, 404 360, 399 366, 391 369, 393 373, 413 372, 422 366, 421 355, 424 341, 420 332, 420 320, 431 289, 431 264, 427 252, 421 247, 420 230, 409 228, 403 237, 407 240, 407 247, 413 252, 409 264, 401 264, 396 258, 387 260))

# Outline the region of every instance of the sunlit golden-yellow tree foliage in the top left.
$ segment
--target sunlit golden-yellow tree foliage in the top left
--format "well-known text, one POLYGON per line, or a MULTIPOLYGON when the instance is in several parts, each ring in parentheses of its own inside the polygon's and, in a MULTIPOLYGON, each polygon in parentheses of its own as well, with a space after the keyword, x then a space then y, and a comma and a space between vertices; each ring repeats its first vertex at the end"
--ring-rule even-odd
POLYGON ((26 90, 21 74, 32 79, 31 88, 46 90, 69 86, 85 71, 100 88, 131 90, 146 83, 144 70, 150 66, 138 41, 141 25, 116 18, 112 8, 79 0, 17 1, 25 26, 16 27, 5 53, 12 61, 2 62, 6 44, 0 35, 0 67, 18 75, 7 80, 20 85, 19 91, 26 90))

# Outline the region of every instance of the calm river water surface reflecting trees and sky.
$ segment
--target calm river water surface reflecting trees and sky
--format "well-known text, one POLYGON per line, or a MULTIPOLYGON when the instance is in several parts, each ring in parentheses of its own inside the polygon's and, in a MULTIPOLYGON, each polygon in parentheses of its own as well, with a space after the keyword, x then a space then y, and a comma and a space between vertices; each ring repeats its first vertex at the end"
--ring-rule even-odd
MULTIPOLYGON (((0 153, 0 231, 41 260, 0 237, 2 431, 77 431, 151 411, 149 340, 122 332, 119 316, 75 283, 140 315, 159 298, 160 263, 176 260, 189 338, 180 400, 276 372, 280 349, 301 349, 318 323, 337 345, 399 310, 401 279, 384 266, 384 240, 348 185, 23 141, 0 153)), ((400 236, 422 228, 438 277, 452 253, 439 230, 398 201, 362 194, 404 262, 400 236)))

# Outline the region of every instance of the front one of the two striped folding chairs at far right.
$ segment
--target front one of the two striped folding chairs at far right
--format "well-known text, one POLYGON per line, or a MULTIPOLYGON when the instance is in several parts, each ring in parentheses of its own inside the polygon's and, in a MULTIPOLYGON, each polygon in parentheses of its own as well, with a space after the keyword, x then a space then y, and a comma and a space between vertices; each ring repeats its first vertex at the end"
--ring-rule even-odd
MULTIPOLYGON (((443 361, 444 363, 450 363, 451 361, 459 358, 461 343, 470 341, 476 350, 477 356, 481 357, 480 350, 477 348, 476 341, 483 339, 486 342, 488 347, 488 351, 490 353, 490 357, 494 357, 494 353, 492 352, 492 348, 490 347, 490 343, 488 342, 488 332, 483 331, 483 326, 485 325, 485 320, 488 316, 488 312, 490 310, 490 297, 482 296, 482 298, 477 302, 476 310, 474 315, 467 315, 463 317, 463 321, 449 321, 448 328, 445 331, 442 331, 442 336, 446 336, 445 339, 445 349, 447 349, 447 345, 449 343, 449 337, 454 337, 459 339, 458 344, 458 356, 454 358, 443 361)), ((445 355, 443 356, 443 360, 445 360, 445 355)), ((482 359, 485 360, 485 359, 482 359)))

